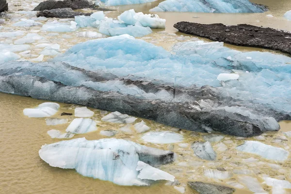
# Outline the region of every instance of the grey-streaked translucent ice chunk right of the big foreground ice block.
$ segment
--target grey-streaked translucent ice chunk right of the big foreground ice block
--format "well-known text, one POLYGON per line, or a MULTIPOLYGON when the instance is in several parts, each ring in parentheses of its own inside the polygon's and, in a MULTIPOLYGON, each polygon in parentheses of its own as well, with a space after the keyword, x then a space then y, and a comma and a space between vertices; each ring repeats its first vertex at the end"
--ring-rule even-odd
POLYGON ((194 142, 191 145, 194 154, 201 159, 213 161, 216 159, 216 153, 209 142, 194 142))

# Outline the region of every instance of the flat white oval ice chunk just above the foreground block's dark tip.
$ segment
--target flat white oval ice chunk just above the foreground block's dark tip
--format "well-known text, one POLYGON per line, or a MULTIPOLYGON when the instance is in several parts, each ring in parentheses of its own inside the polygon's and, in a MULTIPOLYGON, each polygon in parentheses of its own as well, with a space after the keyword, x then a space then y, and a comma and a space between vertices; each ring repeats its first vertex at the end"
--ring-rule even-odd
POLYGON ((142 139, 153 144, 171 144, 183 141, 183 135, 172 131, 150 131, 142 139))

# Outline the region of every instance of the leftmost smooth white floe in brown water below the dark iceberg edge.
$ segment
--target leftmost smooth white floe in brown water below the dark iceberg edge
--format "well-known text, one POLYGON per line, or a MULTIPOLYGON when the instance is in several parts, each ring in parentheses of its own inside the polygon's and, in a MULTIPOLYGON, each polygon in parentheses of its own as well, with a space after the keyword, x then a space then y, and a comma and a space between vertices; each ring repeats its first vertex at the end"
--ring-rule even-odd
POLYGON ((49 117, 58 112, 60 105, 54 102, 45 102, 35 108, 24 109, 24 115, 28 117, 49 117))

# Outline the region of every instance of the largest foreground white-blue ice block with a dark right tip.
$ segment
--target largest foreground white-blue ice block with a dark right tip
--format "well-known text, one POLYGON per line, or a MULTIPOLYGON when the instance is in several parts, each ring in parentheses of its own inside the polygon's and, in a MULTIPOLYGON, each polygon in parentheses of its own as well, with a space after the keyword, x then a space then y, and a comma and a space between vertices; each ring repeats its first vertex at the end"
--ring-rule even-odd
POLYGON ((78 138, 61 141, 42 146, 39 156, 50 166, 75 168, 83 176, 108 180, 119 185, 148 185, 148 179, 173 180, 168 173, 148 166, 174 161, 173 152, 121 139, 88 141, 78 138), (155 174, 149 175, 147 171, 155 174))

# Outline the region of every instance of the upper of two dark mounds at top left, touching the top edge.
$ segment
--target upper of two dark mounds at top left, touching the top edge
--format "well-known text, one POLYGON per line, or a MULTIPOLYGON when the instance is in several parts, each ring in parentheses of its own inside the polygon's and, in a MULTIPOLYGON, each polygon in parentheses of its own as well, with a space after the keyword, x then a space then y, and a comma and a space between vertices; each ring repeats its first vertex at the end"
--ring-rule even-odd
POLYGON ((88 0, 46 0, 39 3, 33 11, 44 11, 58 8, 83 9, 92 7, 94 7, 94 4, 88 0))

